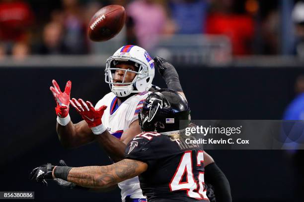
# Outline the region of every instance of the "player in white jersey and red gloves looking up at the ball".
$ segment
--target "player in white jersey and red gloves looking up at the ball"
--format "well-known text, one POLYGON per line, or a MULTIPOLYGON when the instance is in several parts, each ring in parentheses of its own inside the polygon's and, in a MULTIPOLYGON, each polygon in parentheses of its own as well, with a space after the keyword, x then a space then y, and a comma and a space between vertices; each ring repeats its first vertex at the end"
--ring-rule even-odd
MULTIPOLYGON (((70 100, 71 81, 61 92, 53 80, 50 90, 57 102, 57 133, 61 143, 75 148, 97 141, 114 162, 122 160, 126 145, 141 133, 138 113, 149 95, 154 72, 153 60, 146 50, 132 45, 121 47, 106 61, 105 82, 109 84, 111 92, 98 101, 95 107, 89 101, 70 100), (76 124, 71 121, 70 103, 83 121, 76 124), (99 136, 106 130, 106 136, 99 136), (111 144, 116 138, 121 140, 121 144, 111 144)), ((140 199, 144 202, 138 177, 123 181, 118 186, 123 202, 140 199)))

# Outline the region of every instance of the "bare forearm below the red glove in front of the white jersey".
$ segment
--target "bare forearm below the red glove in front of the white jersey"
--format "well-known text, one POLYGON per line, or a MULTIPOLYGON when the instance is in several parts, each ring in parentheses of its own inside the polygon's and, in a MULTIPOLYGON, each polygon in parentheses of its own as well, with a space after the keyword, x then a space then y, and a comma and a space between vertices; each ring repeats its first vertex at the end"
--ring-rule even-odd
POLYGON ((107 130, 96 138, 98 144, 108 153, 114 162, 125 158, 126 145, 107 130))

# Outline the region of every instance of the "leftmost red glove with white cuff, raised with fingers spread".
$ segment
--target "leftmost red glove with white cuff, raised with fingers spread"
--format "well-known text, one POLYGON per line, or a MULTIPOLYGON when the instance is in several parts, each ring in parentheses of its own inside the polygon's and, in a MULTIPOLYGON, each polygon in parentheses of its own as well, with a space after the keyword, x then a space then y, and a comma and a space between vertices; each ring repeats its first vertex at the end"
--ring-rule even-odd
POLYGON ((57 106, 55 107, 57 114, 57 122, 63 126, 67 125, 70 121, 69 115, 69 105, 70 105, 70 94, 72 88, 72 82, 68 81, 65 91, 61 92, 59 85, 55 80, 52 81, 53 86, 50 87, 50 90, 55 98, 57 106))

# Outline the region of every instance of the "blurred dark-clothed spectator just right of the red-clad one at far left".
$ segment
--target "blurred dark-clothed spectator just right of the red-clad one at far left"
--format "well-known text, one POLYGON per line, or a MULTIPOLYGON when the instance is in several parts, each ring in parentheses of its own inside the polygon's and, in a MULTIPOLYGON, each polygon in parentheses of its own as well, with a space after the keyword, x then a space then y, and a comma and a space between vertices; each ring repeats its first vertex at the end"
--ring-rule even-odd
POLYGON ((43 42, 38 47, 39 54, 67 54, 69 50, 63 43, 63 27, 58 22, 51 22, 43 29, 43 42))

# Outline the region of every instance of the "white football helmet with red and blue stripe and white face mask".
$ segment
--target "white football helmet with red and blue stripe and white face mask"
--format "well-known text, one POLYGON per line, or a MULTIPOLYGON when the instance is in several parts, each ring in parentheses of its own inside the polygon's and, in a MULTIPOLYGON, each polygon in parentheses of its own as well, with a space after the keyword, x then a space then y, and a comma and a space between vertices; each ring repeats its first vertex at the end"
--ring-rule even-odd
POLYGON ((109 84, 111 91, 117 97, 126 97, 131 93, 142 93, 144 91, 148 91, 152 86, 152 80, 155 73, 153 62, 153 59, 145 49, 132 45, 123 46, 107 59, 105 82, 109 84), (116 68, 115 65, 119 61, 135 62, 135 66, 138 71, 116 68), (117 69, 125 71, 124 78, 121 83, 113 82, 113 77, 117 69), (132 82, 125 82, 127 72, 136 73, 132 82), (126 86, 114 86, 113 84, 124 84, 126 86))

